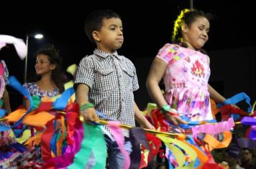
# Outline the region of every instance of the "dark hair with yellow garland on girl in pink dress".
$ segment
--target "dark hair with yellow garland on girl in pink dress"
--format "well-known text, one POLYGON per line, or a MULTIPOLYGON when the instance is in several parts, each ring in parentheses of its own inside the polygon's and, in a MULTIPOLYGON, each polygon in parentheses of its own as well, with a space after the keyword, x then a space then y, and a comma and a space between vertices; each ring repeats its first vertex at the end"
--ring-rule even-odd
MULTIPOLYGON (((186 24, 191 26, 198 17, 205 17, 208 21, 211 20, 211 14, 205 14, 204 11, 198 11, 196 9, 183 9, 180 11, 177 19, 173 25, 173 34, 172 34, 172 42, 173 44, 179 44, 182 47, 188 47, 188 45, 183 41, 182 37, 182 24, 186 24)), ((200 49, 201 52, 206 53, 204 49, 200 49)))

